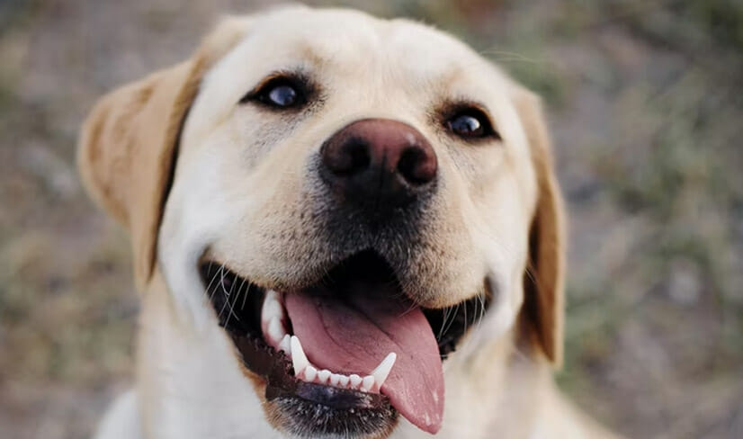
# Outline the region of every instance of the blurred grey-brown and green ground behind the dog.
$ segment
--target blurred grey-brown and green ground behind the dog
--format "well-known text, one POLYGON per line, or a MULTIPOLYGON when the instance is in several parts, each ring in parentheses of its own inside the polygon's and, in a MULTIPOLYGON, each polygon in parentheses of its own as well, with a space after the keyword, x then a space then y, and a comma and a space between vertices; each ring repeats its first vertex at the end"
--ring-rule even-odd
MULTIPOLYGON (((571 229, 560 387, 631 437, 743 437, 743 1, 308 3, 432 23, 542 94, 571 229)), ((266 4, 0 0, 0 437, 86 437, 131 382, 129 243, 77 180, 85 113, 266 4)))

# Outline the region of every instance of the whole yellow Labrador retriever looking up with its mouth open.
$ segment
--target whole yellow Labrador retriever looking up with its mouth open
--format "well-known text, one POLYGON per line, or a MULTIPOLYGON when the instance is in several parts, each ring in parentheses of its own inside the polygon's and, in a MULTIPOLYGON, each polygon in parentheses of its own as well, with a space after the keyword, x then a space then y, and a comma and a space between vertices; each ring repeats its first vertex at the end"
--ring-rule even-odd
POLYGON ((565 402, 539 100, 440 31, 291 7, 112 92, 79 166, 130 230, 110 438, 612 437, 565 402))

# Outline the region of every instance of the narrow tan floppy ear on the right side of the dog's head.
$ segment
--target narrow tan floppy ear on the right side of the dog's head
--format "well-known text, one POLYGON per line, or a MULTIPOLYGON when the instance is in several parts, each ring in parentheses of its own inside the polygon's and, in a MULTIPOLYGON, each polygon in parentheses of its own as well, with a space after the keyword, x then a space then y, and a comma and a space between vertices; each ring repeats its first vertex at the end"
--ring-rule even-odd
POLYGON ((531 149, 537 178, 537 206, 529 232, 529 266, 524 275, 523 318, 547 359, 562 363, 565 306, 565 218, 554 174, 551 141, 540 99, 518 88, 515 105, 531 149))

